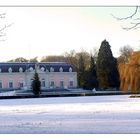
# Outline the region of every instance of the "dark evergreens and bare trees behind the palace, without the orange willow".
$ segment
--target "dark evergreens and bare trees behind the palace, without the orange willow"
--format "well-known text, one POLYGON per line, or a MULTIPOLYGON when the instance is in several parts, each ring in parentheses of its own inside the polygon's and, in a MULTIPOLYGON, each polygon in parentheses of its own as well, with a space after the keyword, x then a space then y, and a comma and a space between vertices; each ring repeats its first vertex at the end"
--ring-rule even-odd
MULTIPOLYGON (((78 86, 84 89, 119 89, 122 77, 120 64, 126 64, 133 49, 125 46, 120 49, 120 56, 115 58, 108 41, 101 42, 99 50, 88 53, 85 50, 72 50, 59 56, 44 56, 40 62, 66 62, 72 64, 77 71, 78 86)), ((16 58, 9 62, 38 62, 37 57, 27 60, 16 58)))

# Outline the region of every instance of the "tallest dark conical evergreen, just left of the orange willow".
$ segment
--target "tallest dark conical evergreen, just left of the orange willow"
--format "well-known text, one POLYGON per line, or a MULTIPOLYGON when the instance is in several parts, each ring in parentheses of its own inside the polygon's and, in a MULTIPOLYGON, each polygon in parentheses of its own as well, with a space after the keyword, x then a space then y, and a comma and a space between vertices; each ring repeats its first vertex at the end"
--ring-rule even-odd
POLYGON ((119 87, 117 62, 110 47, 106 40, 101 43, 96 63, 99 87, 103 89, 119 87))

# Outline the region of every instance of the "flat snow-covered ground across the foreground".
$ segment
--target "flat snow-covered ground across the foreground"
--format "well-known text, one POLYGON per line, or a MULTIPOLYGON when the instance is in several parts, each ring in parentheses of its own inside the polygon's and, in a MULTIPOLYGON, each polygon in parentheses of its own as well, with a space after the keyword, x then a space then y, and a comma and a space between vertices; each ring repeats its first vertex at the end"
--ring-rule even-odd
POLYGON ((0 133, 140 133, 140 98, 117 95, 0 100, 0 133))

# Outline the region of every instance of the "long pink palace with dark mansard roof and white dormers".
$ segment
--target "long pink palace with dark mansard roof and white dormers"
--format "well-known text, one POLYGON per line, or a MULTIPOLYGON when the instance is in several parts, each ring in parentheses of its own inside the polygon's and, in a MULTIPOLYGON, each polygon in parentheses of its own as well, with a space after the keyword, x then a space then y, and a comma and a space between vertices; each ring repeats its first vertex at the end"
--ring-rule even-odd
POLYGON ((5 62, 0 63, 0 90, 31 89, 35 70, 41 89, 77 87, 77 72, 65 62, 5 62))

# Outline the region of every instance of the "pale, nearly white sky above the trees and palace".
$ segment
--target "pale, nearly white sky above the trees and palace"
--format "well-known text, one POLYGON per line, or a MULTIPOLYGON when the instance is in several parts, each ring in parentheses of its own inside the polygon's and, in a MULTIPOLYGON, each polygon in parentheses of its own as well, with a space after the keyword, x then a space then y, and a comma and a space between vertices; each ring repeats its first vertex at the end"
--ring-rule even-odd
POLYGON ((70 50, 88 52, 99 48, 106 39, 114 56, 119 48, 140 46, 140 29, 125 31, 111 14, 123 17, 135 7, 0 7, 6 13, 0 27, 12 24, 5 30, 5 41, 0 42, 0 61, 17 57, 39 58, 61 55, 70 50))

